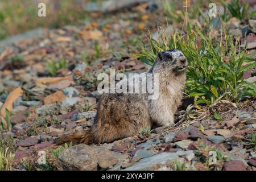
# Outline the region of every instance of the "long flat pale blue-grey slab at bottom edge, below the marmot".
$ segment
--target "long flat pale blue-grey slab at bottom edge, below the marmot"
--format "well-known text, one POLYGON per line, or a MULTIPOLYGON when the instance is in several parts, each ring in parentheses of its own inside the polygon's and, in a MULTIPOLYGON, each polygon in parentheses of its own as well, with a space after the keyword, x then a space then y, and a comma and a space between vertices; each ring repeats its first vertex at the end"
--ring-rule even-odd
POLYGON ((176 159, 180 157, 185 157, 191 159, 194 156, 193 151, 177 151, 175 153, 163 152, 150 156, 148 158, 139 160, 138 163, 133 166, 124 169, 124 171, 152 171, 164 166, 170 166, 176 159))

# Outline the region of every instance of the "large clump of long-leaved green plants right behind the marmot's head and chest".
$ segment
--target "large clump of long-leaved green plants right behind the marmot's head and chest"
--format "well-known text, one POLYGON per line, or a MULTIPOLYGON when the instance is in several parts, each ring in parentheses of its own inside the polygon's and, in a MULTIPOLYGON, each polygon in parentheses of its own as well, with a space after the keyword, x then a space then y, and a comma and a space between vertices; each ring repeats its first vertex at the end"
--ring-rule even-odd
POLYGON ((207 32, 201 32, 197 26, 192 30, 189 23, 185 36, 174 31, 166 37, 160 30, 159 40, 150 36, 149 46, 144 46, 143 52, 135 55, 144 63, 153 65, 159 51, 180 49, 188 60, 185 91, 189 96, 198 98, 197 104, 209 105, 220 97, 237 103, 242 96, 256 94, 254 84, 243 80, 243 72, 256 65, 251 59, 256 52, 246 55, 238 42, 233 43, 225 28, 223 31, 222 37, 217 40, 211 37, 212 28, 208 36, 204 36, 207 32))

